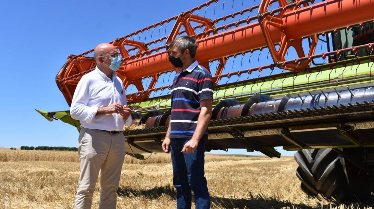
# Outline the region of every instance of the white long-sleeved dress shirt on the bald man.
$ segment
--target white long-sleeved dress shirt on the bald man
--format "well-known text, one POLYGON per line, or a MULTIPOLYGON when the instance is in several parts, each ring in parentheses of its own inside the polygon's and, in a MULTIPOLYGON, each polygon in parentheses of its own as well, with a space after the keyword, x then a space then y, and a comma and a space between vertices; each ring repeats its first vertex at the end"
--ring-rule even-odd
POLYGON ((131 125, 131 116, 126 121, 117 113, 96 116, 99 107, 113 103, 127 105, 123 83, 114 72, 112 80, 98 67, 80 79, 71 101, 70 116, 79 120, 82 127, 122 131, 123 125, 131 125))

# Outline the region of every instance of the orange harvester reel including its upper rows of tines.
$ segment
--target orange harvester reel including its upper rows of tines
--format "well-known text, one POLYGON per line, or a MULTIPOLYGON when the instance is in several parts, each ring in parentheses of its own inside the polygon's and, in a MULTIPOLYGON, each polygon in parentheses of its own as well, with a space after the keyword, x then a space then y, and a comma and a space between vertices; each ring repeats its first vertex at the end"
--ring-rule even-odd
MULTIPOLYGON (((340 28, 353 27, 363 22, 372 21, 371 11, 374 9, 370 0, 360 2, 335 0, 319 3, 303 0, 291 4, 287 4, 285 0, 268 0, 214 20, 193 14, 213 3, 218 3, 218 1, 208 1, 182 12, 180 15, 110 42, 117 47, 122 56, 122 64, 117 74, 123 80, 125 88, 130 84, 134 84, 137 88, 137 96, 131 95, 130 101, 144 101, 145 98, 149 98, 151 89, 154 89, 161 74, 174 70, 179 71, 170 64, 166 49, 168 43, 178 35, 187 34, 197 39, 196 59, 207 69, 215 71, 216 83, 218 83, 219 77, 228 76, 228 74, 222 74, 227 59, 232 56, 234 58, 238 55, 245 56, 253 53, 256 49, 262 50, 265 47, 269 48, 273 67, 305 73, 313 59, 316 58, 313 55, 318 35, 325 36, 328 32, 337 33, 336 31, 340 28), (267 10, 275 3, 279 4, 278 8, 267 10), (312 4, 308 6, 308 3, 312 4), (227 24, 228 18, 255 13, 254 10, 258 10, 257 15, 227 24), (224 23, 218 26, 218 23, 222 21, 224 23), (146 36, 152 37, 154 29, 157 27, 166 29, 171 22, 174 22, 174 27, 168 36, 148 43, 136 41, 137 38, 140 40, 142 35, 145 36, 145 39, 146 36), (193 27, 191 22, 197 23, 197 25, 193 27), (182 30, 182 26, 185 30, 182 30), (195 32, 202 28, 200 33, 195 32), (312 40, 309 49, 304 49, 301 44, 306 37, 311 37, 312 40), (162 43, 164 45, 160 46, 162 43), (278 50, 275 44, 279 44, 278 50), (296 50, 297 58, 286 62, 285 55, 291 46, 296 50), (131 48, 126 49, 126 47, 131 48), (304 50, 308 53, 305 54, 304 50), (136 53, 130 55, 130 52, 134 51, 136 53), (209 63, 213 61, 220 62, 217 69, 214 70, 209 67, 209 63), (149 85, 144 86, 142 80, 147 77, 151 77, 151 81, 149 85)), ((92 57, 87 56, 92 52, 93 49, 79 55, 68 56, 67 62, 56 76, 56 83, 68 104, 71 103, 77 81, 95 67, 92 57)), ((251 71, 254 70, 258 69, 251 69, 251 71)))

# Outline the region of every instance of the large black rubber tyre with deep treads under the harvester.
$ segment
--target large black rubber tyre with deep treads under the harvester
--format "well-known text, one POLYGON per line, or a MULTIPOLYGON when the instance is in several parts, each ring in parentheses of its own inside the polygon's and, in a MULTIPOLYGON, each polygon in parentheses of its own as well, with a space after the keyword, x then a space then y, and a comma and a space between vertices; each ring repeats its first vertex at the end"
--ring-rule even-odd
MULTIPOLYGON (((362 157, 359 148, 340 149, 355 157, 362 157)), ((295 153, 299 167, 296 175, 301 181, 301 190, 309 196, 322 194, 343 202, 348 199, 366 199, 373 189, 369 175, 356 178, 360 169, 348 162, 331 148, 304 149, 295 153)), ((362 174, 361 174, 362 175, 362 174)))

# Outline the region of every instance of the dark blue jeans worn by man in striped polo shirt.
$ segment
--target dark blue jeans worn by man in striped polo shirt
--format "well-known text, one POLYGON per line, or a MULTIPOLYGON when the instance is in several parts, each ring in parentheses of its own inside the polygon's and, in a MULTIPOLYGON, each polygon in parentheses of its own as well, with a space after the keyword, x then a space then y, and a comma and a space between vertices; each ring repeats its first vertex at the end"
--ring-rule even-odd
POLYGON ((204 135, 192 154, 182 153, 190 139, 171 138, 171 162, 173 184, 177 189, 177 209, 191 208, 191 190, 194 192, 196 209, 209 209, 209 192, 204 177, 204 152, 208 135, 204 135))

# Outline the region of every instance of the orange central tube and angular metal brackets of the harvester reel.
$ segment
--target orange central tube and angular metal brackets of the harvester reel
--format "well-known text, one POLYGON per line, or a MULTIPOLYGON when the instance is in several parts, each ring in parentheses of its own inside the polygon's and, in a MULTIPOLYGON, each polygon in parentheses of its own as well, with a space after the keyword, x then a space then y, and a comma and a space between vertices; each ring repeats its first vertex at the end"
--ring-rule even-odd
MULTIPOLYGON (((318 40, 316 34, 373 19, 374 3, 371 0, 329 0, 321 3, 313 3, 314 1, 312 1, 313 5, 310 6, 303 3, 304 1, 298 1, 297 6, 291 8, 286 7, 285 0, 278 1, 279 5, 283 7, 280 11, 278 9, 267 12, 271 2, 270 0, 263 0, 259 7, 258 22, 249 23, 250 20, 247 19, 248 25, 221 33, 217 33, 217 30, 214 30, 215 28, 209 19, 197 17, 190 13, 183 13, 180 16, 173 17, 176 19, 176 23, 166 43, 170 43, 178 33, 180 34, 182 24, 189 36, 195 35, 194 29, 190 25, 190 21, 194 21, 205 25, 205 34, 197 39, 196 58, 207 69, 209 69, 209 61, 220 59, 220 66, 215 76, 221 74, 226 62, 225 56, 261 47, 269 47, 273 61, 279 67, 304 72, 310 65, 308 60, 291 64, 284 63, 284 55, 290 46, 295 48, 299 58, 304 57, 301 40, 304 37, 312 37, 313 43, 307 55, 311 56, 315 51, 318 40), (304 7, 301 7, 301 5, 304 5, 304 7), (212 34, 208 32, 209 30, 213 30, 212 34), (276 50, 275 44, 280 45, 278 50, 276 50)), ((150 92, 144 92, 141 83, 143 77, 151 76, 153 78, 148 86, 148 89, 152 89, 160 73, 174 70, 168 60, 167 50, 158 51, 159 49, 156 49, 157 53, 150 54, 144 43, 124 38, 116 39, 111 43, 119 49, 122 57, 125 58, 117 71, 118 76, 123 80, 125 88, 130 84, 134 84, 138 91, 143 91, 136 100, 141 101, 150 94, 150 92), (124 47, 126 45, 139 48, 137 55, 129 56, 124 47)), ((92 51, 90 50, 89 52, 92 51)), ((95 67, 95 62, 92 58, 71 55, 68 57, 64 67, 59 71, 56 76, 56 83, 69 105, 79 79, 83 74, 91 71, 93 67, 95 67)))

